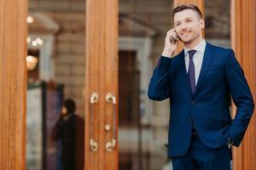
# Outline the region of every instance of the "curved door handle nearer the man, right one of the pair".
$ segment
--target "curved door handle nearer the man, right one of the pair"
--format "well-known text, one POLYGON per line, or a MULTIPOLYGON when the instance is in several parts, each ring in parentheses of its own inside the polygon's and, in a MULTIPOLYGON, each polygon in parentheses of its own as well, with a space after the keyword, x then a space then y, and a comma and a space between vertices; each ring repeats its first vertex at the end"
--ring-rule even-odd
MULTIPOLYGON (((116 129, 115 129, 115 125, 116 125, 116 123, 115 123, 115 117, 116 117, 116 110, 115 110, 116 109, 116 97, 113 94, 108 93, 106 95, 105 99, 106 99, 106 101, 108 103, 113 105, 113 125, 112 125, 113 126, 113 128, 112 128, 113 129, 113 139, 106 143, 106 150, 112 151, 115 148, 115 146, 116 146, 116 129)), ((108 129, 110 129, 110 126, 108 124, 105 125, 105 129, 106 129, 106 131, 108 131, 108 129), (106 127, 108 127, 108 128, 106 128, 106 127)))

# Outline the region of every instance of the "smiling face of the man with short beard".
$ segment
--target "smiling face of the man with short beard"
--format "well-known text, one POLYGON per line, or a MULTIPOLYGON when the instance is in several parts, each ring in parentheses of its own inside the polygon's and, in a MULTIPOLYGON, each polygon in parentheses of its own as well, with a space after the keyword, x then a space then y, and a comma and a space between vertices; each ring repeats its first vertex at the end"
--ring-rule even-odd
POLYGON ((184 43, 194 42, 201 38, 201 29, 204 28, 205 24, 194 10, 184 9, 174 14, 173 20, 177 35, 184 43))

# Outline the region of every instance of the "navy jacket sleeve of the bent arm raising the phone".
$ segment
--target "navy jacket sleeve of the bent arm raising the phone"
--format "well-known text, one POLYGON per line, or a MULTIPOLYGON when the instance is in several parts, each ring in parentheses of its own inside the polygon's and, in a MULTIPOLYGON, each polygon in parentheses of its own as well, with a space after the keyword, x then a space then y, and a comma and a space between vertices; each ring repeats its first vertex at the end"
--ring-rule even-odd
POLYGON ((160 56, 158 65, 154 69, 153 76, 148 86, 148 98, 163 100, 170 96, 168 80, 170 78, 172 59, 160 56))

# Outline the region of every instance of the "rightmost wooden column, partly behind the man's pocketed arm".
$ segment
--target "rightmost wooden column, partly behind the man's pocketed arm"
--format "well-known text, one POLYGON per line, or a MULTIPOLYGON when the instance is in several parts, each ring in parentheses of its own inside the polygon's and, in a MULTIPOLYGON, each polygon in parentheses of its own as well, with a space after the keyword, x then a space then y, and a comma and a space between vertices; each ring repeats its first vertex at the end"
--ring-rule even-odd
MULTIPOLYGON (((231 44, 235 49, 236 58, 247 77, 247 82, 256 99, 256 3, 254 0, 231 0, 231 44)), ((236 113, 233 106, 233 114, 236 113)), ((256 117, 253 116, 245 139, 239 148, 234 147, 234 169, 256 169, 256 117)))

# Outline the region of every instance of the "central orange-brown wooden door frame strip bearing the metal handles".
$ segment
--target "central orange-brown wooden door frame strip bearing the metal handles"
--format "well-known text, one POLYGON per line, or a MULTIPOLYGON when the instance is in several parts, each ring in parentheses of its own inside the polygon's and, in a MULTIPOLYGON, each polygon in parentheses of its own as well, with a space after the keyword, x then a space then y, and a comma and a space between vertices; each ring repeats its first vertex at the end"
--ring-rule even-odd
POLYGON ((118 104, 113 106, 105 99, 108 93, 118 96, 118 8, 118 0, 86 1, 85 169, 118 169, 118 145, 106 150, 106 143, 118 134, 117 130, 113 133, 113 127, 118 127, 117 116, 113 124, 118 104), (90 105, 94 92, 99 99, 90 105), (90 139, 99 145, 96 151, 90 150, 90 139))

